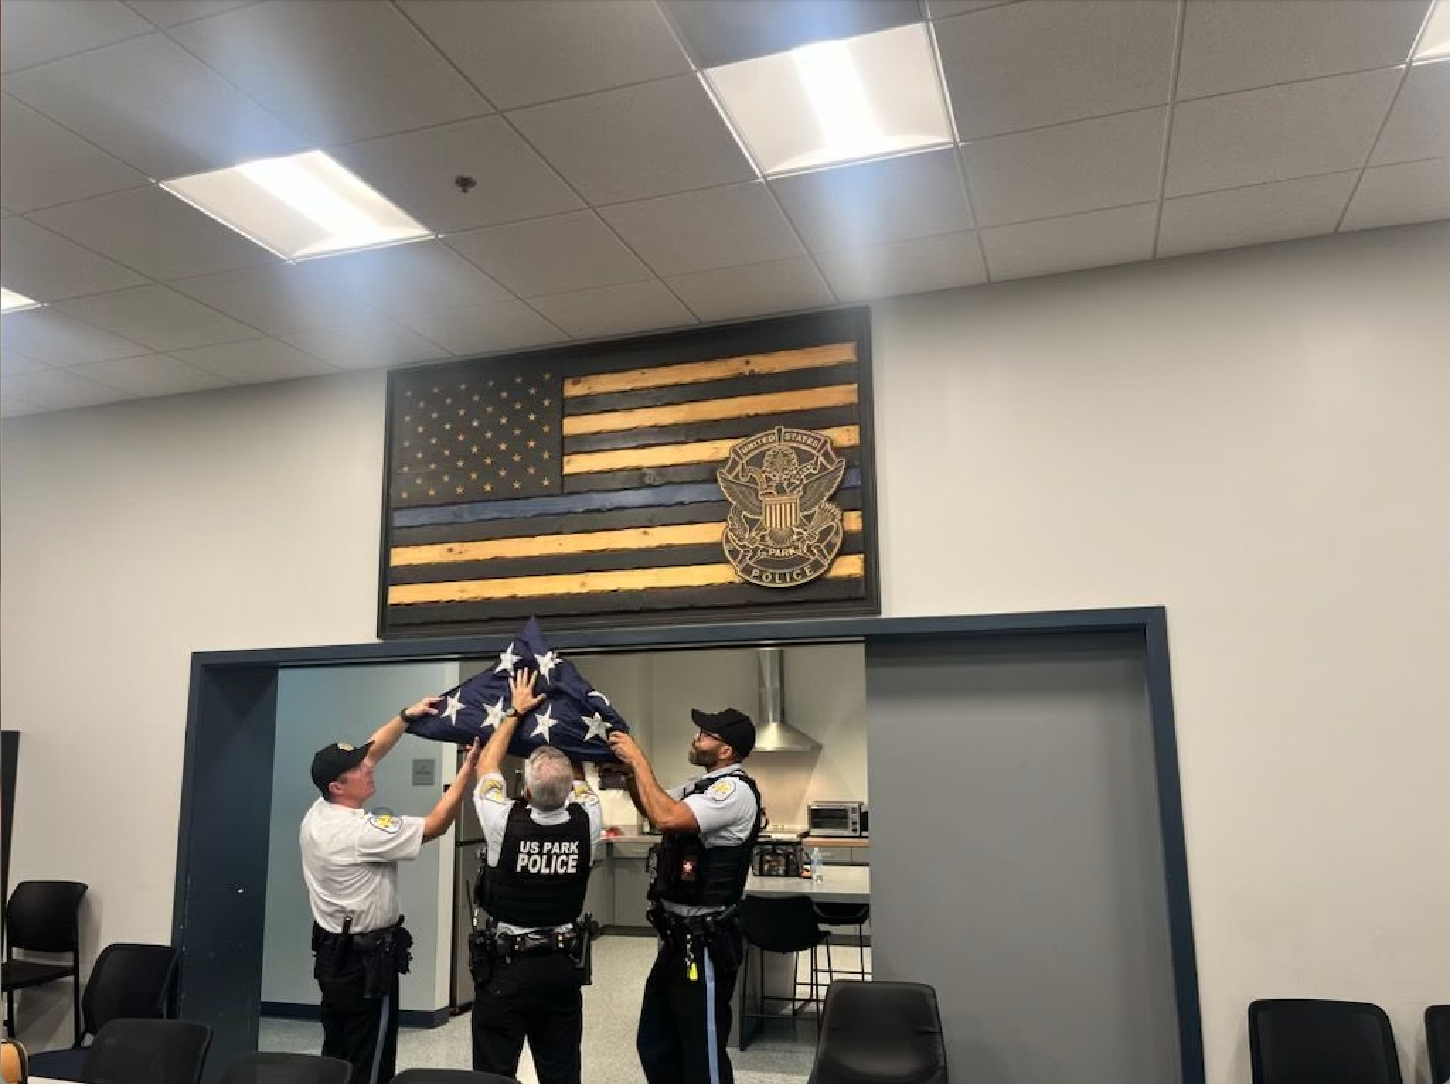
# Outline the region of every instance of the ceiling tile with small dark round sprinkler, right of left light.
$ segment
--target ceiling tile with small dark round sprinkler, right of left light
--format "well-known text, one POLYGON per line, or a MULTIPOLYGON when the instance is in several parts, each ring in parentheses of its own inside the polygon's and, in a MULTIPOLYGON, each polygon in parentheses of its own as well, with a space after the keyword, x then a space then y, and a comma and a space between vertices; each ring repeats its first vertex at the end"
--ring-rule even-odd
POLYGON ((334 157, 435 233, 584 206, 497 116, 352 143, 334 157), (477 187, 460 191, 457 177, 477 187))

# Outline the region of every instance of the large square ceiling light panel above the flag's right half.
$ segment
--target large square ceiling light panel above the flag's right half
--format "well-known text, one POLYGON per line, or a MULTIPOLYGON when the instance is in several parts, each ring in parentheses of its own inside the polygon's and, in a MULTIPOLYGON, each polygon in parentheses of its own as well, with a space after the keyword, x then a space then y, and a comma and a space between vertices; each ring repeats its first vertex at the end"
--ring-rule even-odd
POLYGON ((924 23, 706 68, 767 177, 945 146, 945 96, 924 23))

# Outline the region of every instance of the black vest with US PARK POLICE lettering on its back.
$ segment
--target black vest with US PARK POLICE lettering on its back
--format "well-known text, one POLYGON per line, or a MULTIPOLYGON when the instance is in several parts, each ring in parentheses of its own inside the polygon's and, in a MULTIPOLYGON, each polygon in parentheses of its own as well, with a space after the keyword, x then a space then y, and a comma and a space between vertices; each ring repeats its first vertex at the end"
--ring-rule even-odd
POLYGON ((483 907, 513 926, 563 926, 584 910, 589 891, 589 814, 571 801, 568 820, 539 825, 522 799, 509 810, 499 864, 489 867, 483 907))

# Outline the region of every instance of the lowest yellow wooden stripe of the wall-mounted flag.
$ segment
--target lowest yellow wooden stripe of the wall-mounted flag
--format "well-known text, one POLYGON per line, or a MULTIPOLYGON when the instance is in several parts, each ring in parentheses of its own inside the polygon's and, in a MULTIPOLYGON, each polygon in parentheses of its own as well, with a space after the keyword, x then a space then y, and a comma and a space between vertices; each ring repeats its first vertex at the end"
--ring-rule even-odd
MULTIPOLYGON (((866 574, 860 554, 842 554, 831 562, 828 580, 858 580, 866 574)), ((422 603, 483 603, 494 599, 532 599, 545 594, 597 594, 650 591, 666 587, 722 587, 744 583, 728 564, 677 568, 628 568, 616 572, 521 575, 508 580, 457 580, 447 584, 399 584, 387 588, 389 606, 422 603)))

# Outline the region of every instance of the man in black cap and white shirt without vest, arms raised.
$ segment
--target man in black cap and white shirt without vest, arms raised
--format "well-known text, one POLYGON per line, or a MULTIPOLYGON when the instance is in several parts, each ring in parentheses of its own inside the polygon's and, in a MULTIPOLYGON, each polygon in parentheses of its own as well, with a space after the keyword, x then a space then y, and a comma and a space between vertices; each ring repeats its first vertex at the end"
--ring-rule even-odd
POLYGON ((480 745, 426 817, 368 812, 373 770, 441 697, 423 697, 383 723, 371 741, 318 749, 312 781, 322 791, 302 819, 302 874, 312 904, 313 975, 322 990, 322 1052, 352 1062, 348 1084, 386 1084, 397 1059, 397 977, 412 936, 397 910, 397 864, 447 832, 468 793, 480 745))

